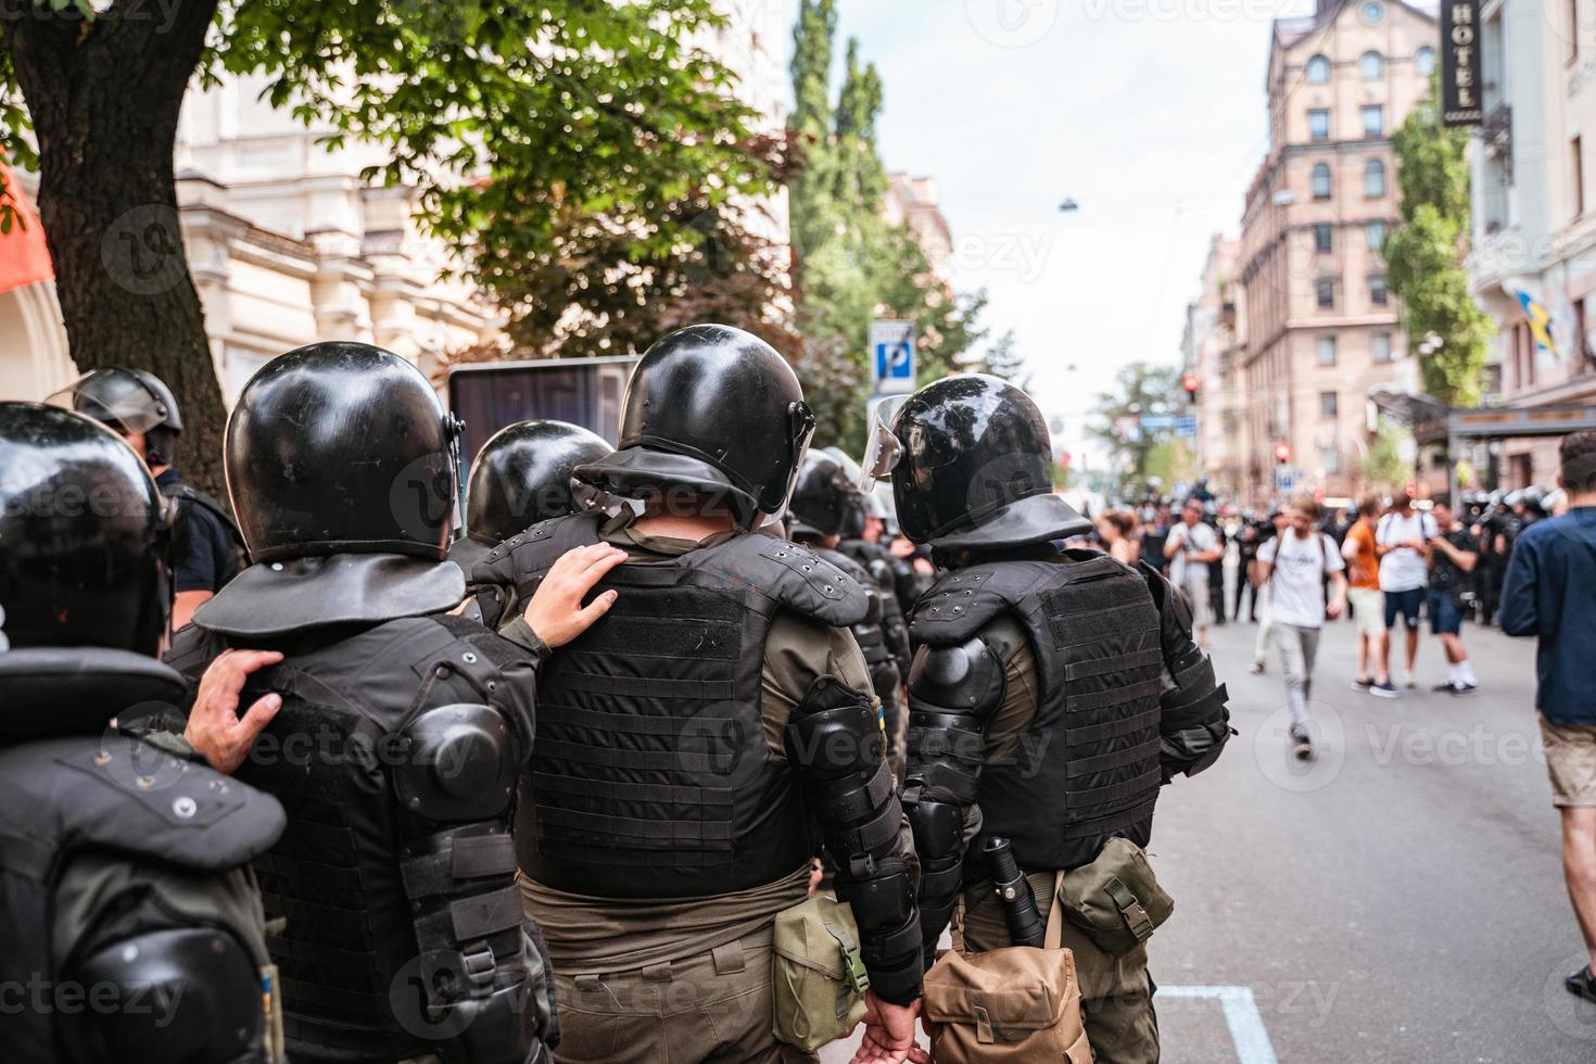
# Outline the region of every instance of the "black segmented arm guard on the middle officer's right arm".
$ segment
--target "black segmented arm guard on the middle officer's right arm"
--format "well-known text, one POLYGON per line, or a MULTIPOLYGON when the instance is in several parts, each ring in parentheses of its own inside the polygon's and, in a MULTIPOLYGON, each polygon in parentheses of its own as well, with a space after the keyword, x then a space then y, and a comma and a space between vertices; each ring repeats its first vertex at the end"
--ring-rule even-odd
POLYGON ((870 697, 836 676, 816 680, 787 726, 787 756, 836 861, 838 898, 859 924, 870 986, 889 1002, 915 1000, 922 971, 919 916, 908 861, 899 855, 903 809, 870 697))

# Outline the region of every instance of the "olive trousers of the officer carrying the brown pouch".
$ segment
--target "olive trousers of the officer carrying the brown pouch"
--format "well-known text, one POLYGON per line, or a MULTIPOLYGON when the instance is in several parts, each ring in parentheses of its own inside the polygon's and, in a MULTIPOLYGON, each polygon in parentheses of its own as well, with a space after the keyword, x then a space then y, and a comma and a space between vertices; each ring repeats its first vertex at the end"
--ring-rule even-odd
MULTIPOLYGON (((1026 877, 1036 908, 1047 916, 1053 873, 1026 877)), ((991 890, 964 895, 964 946, 970 952, 1010 946, 1004 909, 991 890)), ((1148 948, 1136 946, 1111 957, 1098 949, 1079 927, 1065 920, 1063 944, 1076 956, 1080 981, 1080 1015, 1096 1064, 1157 1064, 1159 1018, 1152 1010, 1152 976, 1148 975, 1148 948)))

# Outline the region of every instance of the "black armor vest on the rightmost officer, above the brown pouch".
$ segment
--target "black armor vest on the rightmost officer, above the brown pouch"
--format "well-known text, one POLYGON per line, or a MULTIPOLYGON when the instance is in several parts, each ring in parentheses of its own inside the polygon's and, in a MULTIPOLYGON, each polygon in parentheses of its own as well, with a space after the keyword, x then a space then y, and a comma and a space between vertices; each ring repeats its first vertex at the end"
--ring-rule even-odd
POLYGON ((1041 689, 1018 750, 982 769, 985 833, 1010 839, 1029 869, 1088 865, 1112 836, 1146 845, 1163 675, 1148 584, 1095 552, 993 562, 943 574, 910 630, 916 644, 958 646, 1004 613, 1025 625, 1041 689))

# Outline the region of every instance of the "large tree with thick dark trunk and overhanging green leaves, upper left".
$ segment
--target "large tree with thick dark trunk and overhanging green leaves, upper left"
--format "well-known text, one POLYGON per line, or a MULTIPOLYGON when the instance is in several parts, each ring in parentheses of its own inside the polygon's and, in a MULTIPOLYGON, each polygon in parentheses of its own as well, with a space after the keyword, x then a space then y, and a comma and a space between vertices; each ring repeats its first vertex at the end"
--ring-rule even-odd
POLYGON ((190 85, 259 75, 329 145, 381 145, 369 177, 410 188, 463 273, 516 297, 584 219, 643 260, 702 242, 672 207, 768 187, 731 72, 693 43, 720 24, 710 0, 0 0, 0 150, 38 169, 78 367, 172 384, 179 459, 214 488, 222 396, 172 172, 190 85))

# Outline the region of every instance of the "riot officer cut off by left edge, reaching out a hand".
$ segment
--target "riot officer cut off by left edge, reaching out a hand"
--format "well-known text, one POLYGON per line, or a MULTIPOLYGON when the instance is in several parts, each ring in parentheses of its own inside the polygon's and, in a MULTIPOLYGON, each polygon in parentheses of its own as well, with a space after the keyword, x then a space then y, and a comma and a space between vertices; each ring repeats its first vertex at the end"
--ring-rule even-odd
MULTIPOLYGON (((281 1059, 247 869, 281 806, 180 743, 107 727, 184 696, 155 659, 166 554, 161 496, 132 450, 75 413, 0 404, 6 1064, 281 1059)), ((236 697, 243 673, 230 676, 236 697)))

